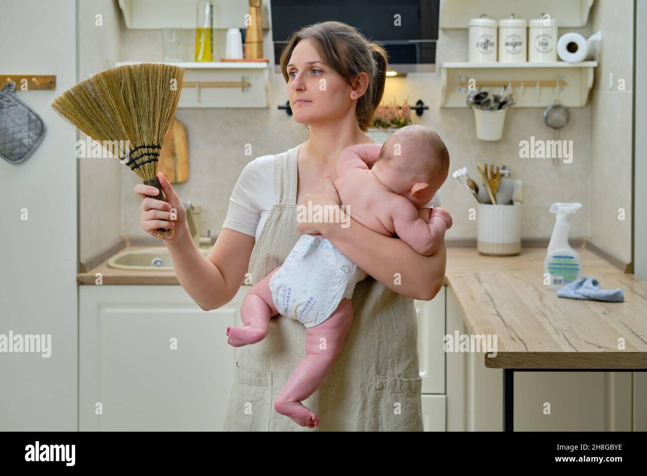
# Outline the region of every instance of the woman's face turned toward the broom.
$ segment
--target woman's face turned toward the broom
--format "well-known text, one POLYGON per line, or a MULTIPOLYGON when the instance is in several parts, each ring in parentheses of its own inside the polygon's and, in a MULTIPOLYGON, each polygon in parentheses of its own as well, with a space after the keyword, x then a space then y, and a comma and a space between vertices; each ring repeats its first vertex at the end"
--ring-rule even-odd
POLYGON ((309 126, 338 122, 347 115, 354 117, 355 100, 366 91, 366 85, 358 81, 353 98, 353 87, 322 63, 310 40, 301 40, 294 47, 287 75, 287 94, 294 120, 309 126))

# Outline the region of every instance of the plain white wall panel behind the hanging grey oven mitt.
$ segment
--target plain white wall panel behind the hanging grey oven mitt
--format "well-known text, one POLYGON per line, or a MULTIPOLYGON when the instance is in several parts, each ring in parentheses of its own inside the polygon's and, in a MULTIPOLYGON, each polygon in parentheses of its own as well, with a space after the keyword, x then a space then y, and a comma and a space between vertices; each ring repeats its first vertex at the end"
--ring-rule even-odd
POLYGON ((0 430, 78 427, 76 132, 50 109, 76 83, 76 1, 2 1, 0 74, 56 74, 55 91, 18 91, 43 119, 38 150, 0 159, 0 334, 51 334, 51 356, 0 354, 0 430), (28 220, 21 220, 27 209, 28 220))

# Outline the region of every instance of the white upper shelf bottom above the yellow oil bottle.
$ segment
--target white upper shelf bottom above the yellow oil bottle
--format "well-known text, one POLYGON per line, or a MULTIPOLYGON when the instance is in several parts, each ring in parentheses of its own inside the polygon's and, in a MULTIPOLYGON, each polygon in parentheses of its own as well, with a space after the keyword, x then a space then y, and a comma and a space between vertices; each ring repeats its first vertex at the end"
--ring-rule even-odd
MULTIPOLYGON (((198 0, 119 0, 126 28, 195 28, 198 0)), ((249 4, 242 0, 211 0, 214 28, 246 28, 249 4)), ((261 3, 263 30, 269 29, 267 1, 261 3)))

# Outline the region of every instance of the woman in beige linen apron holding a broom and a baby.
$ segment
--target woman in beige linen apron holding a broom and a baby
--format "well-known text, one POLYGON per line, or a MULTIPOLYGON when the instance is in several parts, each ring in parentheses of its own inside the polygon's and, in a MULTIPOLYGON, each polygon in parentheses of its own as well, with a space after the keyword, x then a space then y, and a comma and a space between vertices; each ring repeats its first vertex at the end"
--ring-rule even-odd
MULTIPOLYGON (((164 242, 180 284, 204 310, 229 302, 247 270, 256 284, 280 266, 301 233, 322 234, 366 271, 369 276, 355 288, 355 318, 342 353, 320 388, 303 401, 319 416, 316 429, 323 431, 422 431, 417 316, 411 298, 430 300, 441 289, 444 243, 435 255, 421 256, 402 240, 349 216, 350 226, 343 228, 340 222, 296 220, 297 206, 308 201, 313 207, 338 207, 331 178, 324 179, 322 192, 322 177, 336 178, 336 159, 345 147, 373 142, 364 131, 382 99, 386 66, 384 49, 345 23, 317 23, 292 35, 281 54, 281 71, 294 120, 309 126, 310 137, 287 152, 247 164, 206 258, 193 244, 186 212, 166 178, 158 174, 171 205, 147 198, 157 194, 152 187, 135 187, 144 198, 142 228, 155 236, 158 228, 174 227, 164 242), (246 183, 255 186, 251 196, 245 194, 246 183), (261 198, 272 184, 275 200, 271 203, 270 196, 268 203, 261 198), (171 216, 171 206, 177 217, 171 216)), ((430 208, 419 211, 429 219, 430 208)), ((263 341, 239 348, 225 430, 308 430, 272 408, 305 355, 304 342, 303 324, 277 315, 263 341)))

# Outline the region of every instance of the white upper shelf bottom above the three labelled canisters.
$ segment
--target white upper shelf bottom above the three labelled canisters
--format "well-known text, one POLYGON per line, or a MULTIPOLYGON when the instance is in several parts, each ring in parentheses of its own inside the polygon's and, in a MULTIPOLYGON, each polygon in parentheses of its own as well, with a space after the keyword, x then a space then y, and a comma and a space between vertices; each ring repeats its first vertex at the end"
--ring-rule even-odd
POLYGON ((494 19, 540 18, 543 13, 557 20, 558 27, 584 27, 593 0, 441 0, 440 27, 467 28, 470 19, 487 14, 494 19))

